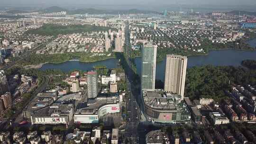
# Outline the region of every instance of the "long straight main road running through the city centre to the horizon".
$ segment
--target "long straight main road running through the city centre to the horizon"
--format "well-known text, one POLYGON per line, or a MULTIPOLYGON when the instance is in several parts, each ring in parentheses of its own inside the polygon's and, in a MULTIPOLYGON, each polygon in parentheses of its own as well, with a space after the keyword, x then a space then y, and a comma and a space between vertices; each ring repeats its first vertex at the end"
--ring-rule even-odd
POLYGON ((129 40, 129 28, 126 25, 125 28, 125 53, 126 53, 126 62, 128 69, 126 71, 126 78, 127 78, 127 86, 128 86, 128 116, 127 116, 127 128, 125 137, 128 139, 130 144, 137 144, 138 143, 138 134, 137 134, 137 126, 139 123, 138 117, 138 105, 133 84, 133 71, 132 71, 132 61, 131 61, 131 47, 130 47, 130 40, 129 40))

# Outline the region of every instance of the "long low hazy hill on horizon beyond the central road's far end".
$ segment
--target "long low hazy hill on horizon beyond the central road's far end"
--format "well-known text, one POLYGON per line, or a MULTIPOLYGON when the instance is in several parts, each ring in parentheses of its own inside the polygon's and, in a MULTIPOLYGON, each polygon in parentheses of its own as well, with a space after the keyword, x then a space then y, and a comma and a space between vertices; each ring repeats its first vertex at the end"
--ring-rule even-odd
POLYGON ((99 15, 99 14, 148 14, 154 13, 159 14, 159 12, 151 11, 151 10, 139 10, 139 9, 128 9, 128 10, 104 10, 104 9, 75 9, 68 11, 68 14, 91 14, 91 15, 99 15))

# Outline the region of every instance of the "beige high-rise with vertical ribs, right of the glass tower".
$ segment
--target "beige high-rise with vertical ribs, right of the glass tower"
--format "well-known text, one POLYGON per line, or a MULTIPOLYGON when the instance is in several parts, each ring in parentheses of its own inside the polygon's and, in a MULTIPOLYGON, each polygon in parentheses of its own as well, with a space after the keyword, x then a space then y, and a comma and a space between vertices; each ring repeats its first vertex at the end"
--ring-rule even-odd
POLYGON ((184 97, 187 57, 180 55, 166 55, 165 91, 184 97))

